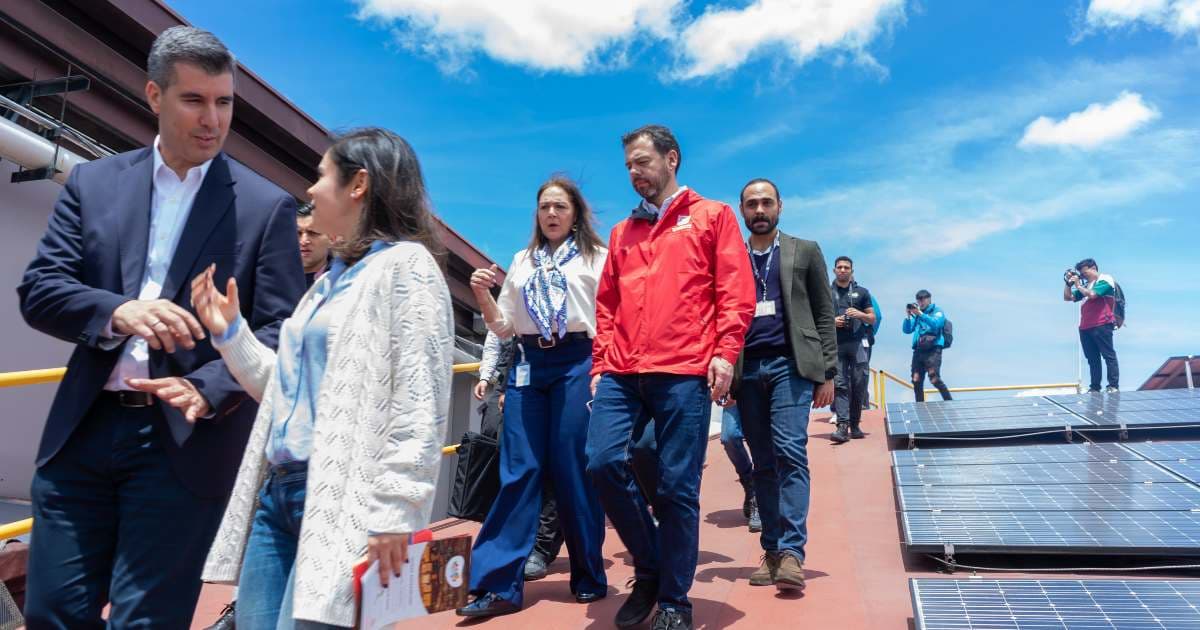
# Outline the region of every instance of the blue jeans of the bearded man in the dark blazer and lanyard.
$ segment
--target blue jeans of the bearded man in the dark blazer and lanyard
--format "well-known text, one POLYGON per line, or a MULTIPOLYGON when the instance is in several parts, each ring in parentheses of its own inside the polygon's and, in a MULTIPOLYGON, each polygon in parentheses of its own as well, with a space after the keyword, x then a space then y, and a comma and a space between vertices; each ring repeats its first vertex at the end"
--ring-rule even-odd
POLYGON ((754 457, 762 548, 804 560, 809 539, 809 412, 814 383, 791 356, 746 359, 736 394, 754 457))

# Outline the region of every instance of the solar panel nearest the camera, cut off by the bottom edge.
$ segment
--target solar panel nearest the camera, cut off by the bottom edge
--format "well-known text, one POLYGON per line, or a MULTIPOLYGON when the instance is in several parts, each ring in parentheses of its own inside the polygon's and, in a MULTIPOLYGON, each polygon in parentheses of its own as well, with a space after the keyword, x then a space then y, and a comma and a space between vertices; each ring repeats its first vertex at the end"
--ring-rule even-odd
POLYGON ((1200 580, 908 582, 918 630, 1200 628, 1200 580))

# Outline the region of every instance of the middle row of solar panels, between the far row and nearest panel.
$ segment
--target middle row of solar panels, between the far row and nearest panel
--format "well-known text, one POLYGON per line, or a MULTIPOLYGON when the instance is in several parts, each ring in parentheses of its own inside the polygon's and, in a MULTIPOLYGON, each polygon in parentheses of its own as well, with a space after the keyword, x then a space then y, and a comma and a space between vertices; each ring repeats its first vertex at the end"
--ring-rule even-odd
POLYGON ((1200 442, 893 452, 910 551, 1200 556, 1200 442))

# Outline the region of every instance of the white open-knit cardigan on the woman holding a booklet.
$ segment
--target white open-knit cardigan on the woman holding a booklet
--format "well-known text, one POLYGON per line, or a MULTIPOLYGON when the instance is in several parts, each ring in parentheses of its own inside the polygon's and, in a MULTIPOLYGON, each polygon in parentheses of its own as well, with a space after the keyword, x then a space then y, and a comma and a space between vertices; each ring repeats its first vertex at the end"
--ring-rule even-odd
MULTIPOLYGON (((430 522, 454 356, 450 292, 428 251, 400 242, 362 264, 346 298, 329 305, 336 311, 295 565, 295 618, 343 626, 355 622, 352 570, 367 533, 416 532, 430 522)), ((300 304, 310 299, 311 290, 300 304)), ((221 355, 262 398, 204 566, 206 582, 236 583, 268 472, 271 420, 286 401, 276 400, 275 353, 248 326, 221 355)))

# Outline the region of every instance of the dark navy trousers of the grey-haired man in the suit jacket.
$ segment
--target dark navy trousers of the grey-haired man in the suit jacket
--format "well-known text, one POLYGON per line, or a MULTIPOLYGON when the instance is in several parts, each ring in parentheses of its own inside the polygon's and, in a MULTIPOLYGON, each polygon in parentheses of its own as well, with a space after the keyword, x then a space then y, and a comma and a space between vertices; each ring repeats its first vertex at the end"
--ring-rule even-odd
MULTIPOLYGON (((202 420, 203 421, 203 420, 202 420)), ((102 398, 31 490, 29 630, 187 628, 224 511, 175 478, 157 407, 102 398)))

